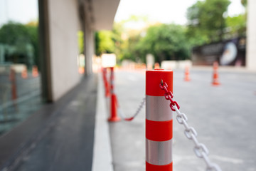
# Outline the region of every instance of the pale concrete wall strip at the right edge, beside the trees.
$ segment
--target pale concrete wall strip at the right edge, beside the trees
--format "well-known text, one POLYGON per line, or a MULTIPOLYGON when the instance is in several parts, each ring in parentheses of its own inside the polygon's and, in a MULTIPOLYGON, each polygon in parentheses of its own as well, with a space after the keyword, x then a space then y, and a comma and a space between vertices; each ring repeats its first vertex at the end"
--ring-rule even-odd
POLYGON ((256 1, 247 1, 246 67, 256 71, 256 1))

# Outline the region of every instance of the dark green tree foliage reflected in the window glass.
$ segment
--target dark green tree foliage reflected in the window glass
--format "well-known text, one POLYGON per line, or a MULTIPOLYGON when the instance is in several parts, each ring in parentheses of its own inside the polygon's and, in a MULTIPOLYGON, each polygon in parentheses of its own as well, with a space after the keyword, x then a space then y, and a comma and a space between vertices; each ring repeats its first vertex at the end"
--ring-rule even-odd
POLYGON ((6 61, 38 65, 38 26, 35 22, 26 25, 9 22, 0 28, 0 43, 5 47, 6 61))

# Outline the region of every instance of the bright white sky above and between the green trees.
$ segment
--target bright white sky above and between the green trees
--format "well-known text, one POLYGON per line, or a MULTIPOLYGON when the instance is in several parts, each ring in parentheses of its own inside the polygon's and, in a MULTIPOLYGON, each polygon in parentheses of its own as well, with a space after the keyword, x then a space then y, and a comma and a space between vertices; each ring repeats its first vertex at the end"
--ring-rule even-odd
MULTIPOLYGON (((197 0, 121 0, 114 21, 129 19, 129 16, 148 16, 151 21, 166 24, 186 24, 186 9, 197 0)), ((245 12, 240 0, 230 0, 228 16, 245 12)))

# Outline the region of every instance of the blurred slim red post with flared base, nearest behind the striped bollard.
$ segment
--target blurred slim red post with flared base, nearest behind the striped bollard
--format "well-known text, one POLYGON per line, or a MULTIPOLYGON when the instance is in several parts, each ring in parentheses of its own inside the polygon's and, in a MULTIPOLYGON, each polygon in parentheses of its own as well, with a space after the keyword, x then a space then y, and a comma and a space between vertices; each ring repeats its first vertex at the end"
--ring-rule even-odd
POLYGON ((114 67, 110 67, 110 122, 117 122, 121 120, 117 116, 117 96, 114 93, 114 67))

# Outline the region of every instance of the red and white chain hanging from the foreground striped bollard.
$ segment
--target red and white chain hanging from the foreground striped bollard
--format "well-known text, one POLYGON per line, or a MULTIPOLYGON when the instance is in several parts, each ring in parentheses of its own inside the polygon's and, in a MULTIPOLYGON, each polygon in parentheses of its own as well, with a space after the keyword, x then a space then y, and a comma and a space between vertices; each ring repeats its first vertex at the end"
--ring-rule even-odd
POLYGON ((171 93, 171 91, 167 89, 168 85, 165 82, 161 81, 159 87, 161 88, 161 90, 164 90, 165 92, 164 96, 166 100, 170 100, 171 110, 177 113, 176 119, 178 123, 184 126, 185 128, 184 134, 186 135, 186 138, 188 138, 189 140, 193 140, 195 144, 195 147, 193 148, 193 150, 196 156, 199 158, 203 158, 203 160, 206 162, 206 171, 221 171, 218 165, 216 165, 213 162, 210 162, 210 159, 208 158, 209 150, 207 149, 206 145, 198 142, 196 138, 198 135, 196 133, 196 130, 193 127, 188 125, 187 123, 188 118, 184 113, 181 113, 181 111, 179 110, 180 106, 178 105, 178 103, 172 100, 172 98, 174 98, 174 95, 171 93))

